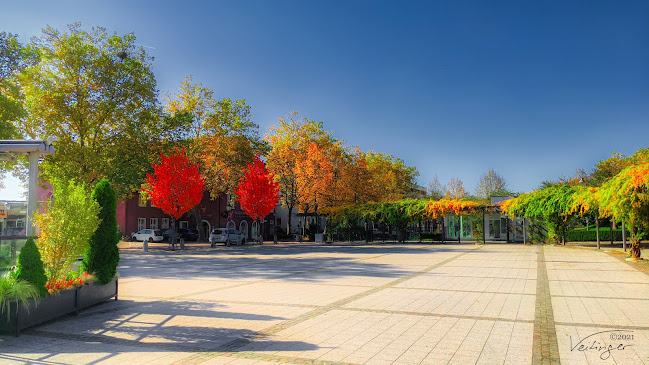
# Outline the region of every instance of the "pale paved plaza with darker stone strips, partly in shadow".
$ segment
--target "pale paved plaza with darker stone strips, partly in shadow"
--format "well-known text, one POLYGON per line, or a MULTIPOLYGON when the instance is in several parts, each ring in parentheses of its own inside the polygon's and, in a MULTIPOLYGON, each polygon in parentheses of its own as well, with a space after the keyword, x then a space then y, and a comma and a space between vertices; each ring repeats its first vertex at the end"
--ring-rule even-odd
POLYGON ((649 276, 592 249, 121 255, 119 300, 0 337, 0 363, 649 364, 649 276))

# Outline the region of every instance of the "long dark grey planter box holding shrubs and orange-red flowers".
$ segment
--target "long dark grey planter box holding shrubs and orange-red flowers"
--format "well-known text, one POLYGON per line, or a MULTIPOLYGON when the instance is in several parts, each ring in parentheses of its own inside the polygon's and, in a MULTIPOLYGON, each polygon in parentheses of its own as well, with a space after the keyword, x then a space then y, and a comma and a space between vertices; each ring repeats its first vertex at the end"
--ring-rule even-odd
POLYGON ((63 317, 70 313, 78 313, 80 309, 101 303, 110 298, 117 300, 117 279, 113 279, 106 285, 83 285, 73 289, 62 290, 57 295, 50 295, 40 298, 36 304, 30 300, 29 308, 24 305, 17 307, 17 303, 11 303, 9 310, 11 320, 7 321, 7 314, 0 316, 0 333, 15 333, 20 335, 20 331, 63 317))

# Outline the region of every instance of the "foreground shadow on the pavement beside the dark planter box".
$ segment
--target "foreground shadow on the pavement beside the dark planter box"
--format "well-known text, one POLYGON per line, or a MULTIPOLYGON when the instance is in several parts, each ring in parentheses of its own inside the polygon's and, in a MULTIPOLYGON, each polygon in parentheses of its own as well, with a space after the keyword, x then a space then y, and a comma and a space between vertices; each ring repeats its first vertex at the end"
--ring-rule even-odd
MULTIPOLYGON (((50 363, 57 354, 111 353, 105 361, 124 352, 236 352, 237 348, 263 336, 246 328, 228 328, 229 323, 250 326, 252 322, 277 323, 287 318, 213 310, 216 303, 110 301, 59 320, 23 331, 21 337, 0 337, 0 363, 16 360, 12 354, 42 353, 30 356, 30 363, 50 363), (192 318, 193 317, 193 318, 192 318), (226 323, 224 323, 224 321, 226 323), (231 322, 235 321, 235 322, 231 322), (245 321, 245 322, 242 322, 245 321), (249 322, 248 322, 249 321, 249 322), (225 325, 225 326, 224 326, 225 325), (52 347, 57 341, 75 341, 76 346, 52 347), (38 341, 43 346, 34 346, 38 341), (78 346, 81 341, 83 346, 78 346)), ((269 327, 265 323, 257 327, 269 327)), ((306 351, 318 346, 300 341, 265 339, 264 351, 306 351)), ((24 359, 23 359, 24 360, 24 359)), ((57 362, 52 362, 57 363, 57 362)), ((65 363, 65 362, 64 362, 65 363)))

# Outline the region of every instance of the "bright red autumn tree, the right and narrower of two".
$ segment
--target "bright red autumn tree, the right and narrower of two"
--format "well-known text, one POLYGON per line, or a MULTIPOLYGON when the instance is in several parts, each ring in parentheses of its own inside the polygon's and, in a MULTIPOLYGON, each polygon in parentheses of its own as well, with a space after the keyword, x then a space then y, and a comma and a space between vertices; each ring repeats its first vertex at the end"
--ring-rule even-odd
POLYGON ((245 168, 235 194, 239 197, 241 209, 259 223, 277 205, 279 183, 255 156, 254 162, 245 168))

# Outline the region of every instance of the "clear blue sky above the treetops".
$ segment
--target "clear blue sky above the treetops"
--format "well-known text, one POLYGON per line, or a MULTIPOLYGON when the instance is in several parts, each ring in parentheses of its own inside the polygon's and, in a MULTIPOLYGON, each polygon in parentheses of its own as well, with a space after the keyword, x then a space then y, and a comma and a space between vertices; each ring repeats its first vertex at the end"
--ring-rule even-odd
MULTIPOLYGON (((416 166, 494 168, 514 191, 649 146, 647 1, 12 1, 0 31, 135 33, 160 90, 247 99, 263 134, 297 110, 416 166)), ((0 191, 11 193, 15 182, 0 191)), ((15 190, 15 189, 14 189, 15 190)))

